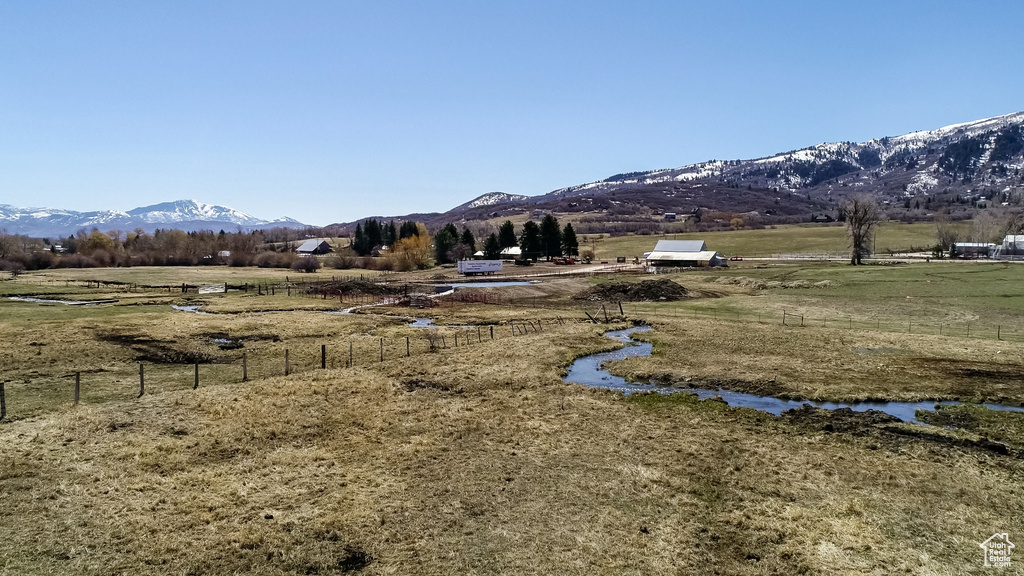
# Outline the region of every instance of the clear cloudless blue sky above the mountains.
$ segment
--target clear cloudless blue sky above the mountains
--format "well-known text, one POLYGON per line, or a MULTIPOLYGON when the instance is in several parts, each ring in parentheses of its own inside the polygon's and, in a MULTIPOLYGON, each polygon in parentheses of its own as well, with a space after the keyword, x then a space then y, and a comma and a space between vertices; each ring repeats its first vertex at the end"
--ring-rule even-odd
POLYGON ((326 224, 1024 110, 1020 2, 0 0, 0 204, 326 224))

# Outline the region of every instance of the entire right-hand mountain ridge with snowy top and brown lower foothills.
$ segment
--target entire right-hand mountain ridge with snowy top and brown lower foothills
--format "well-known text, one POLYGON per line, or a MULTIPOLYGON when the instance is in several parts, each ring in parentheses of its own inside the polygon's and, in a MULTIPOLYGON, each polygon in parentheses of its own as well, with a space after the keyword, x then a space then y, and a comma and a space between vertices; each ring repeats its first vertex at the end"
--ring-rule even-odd
MULTIPOLYGON (((505 218, 524 211, 584 212, 590 221, 637 221, 664 212, 757 213, 800 221, 835 213, 852 194, 874 197, 891 216, 927 216, 923 206, 1024 203, 1024 112, 864 142, 824 142, 751 160, 710 160, 615 174, 540 196, 484 194, 430 227, 505 218), (914 211, 914 214, 910 214, 914 211)), ((342 228, 351 225, 338 224, 342 228)))

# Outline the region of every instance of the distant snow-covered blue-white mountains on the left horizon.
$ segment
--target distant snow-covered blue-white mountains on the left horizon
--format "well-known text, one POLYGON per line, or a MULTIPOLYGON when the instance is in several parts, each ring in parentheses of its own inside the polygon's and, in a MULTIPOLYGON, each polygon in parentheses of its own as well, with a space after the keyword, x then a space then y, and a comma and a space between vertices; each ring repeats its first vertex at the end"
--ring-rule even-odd
POLYGON ((52 238, 68 236, 85 229, 132 231, 142 229, 176 229, 185 232, 197 230, 256 230, 273 227, 304 227, 292 218, 264 220, 225 206, 204 204, 195 200, 177 200, 152 206, 142 206, 122 212, 101 210, 76 212, 55 208, 19 208, 0 204, 0 230, 8 234, 52 238))

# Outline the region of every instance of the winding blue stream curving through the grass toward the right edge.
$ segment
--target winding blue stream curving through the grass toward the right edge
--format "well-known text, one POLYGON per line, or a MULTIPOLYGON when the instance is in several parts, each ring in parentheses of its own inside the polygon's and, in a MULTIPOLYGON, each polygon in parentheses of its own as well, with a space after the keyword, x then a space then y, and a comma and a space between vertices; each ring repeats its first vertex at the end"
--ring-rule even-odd
MULTIPOLYGON (((937 406, 957 406, 963 404, 961 402, 953 401, 924 401, 924 402, 813 402, 807 400, 781 400, 778 398, 770 396, 758 396, 753 394, 738 393, 727 389, 707 389, 707 388, 677 388, 673 386, 659 385, 659 384, 644 384, 637 382, 629 382, 625 378, 620 376, 613 376, 609 374, 606 370, 601 368, 601 365, 605 362, 612 362, 615 360, 625 360, 631 356, 650 356, 651 344, 647 342, 636 342, 632 338, 634 332, 646 332, 650 330, 648 326, 640 326, 637 328, 627 328, 625 330, 614 330, 607 332, 605 336, 624 342, 625 347, 618 348, 612 352, 605 352, 600 354, 595 354, 591 356, 586 356, 578 359, 569 367, 569 373, 563 378, 566 382, 572 382, 578 384, 584 384, 588 386, 594 386, 599 388, 608 388, 620 390, 623 394, 631 394, 634 392, 656 392, 659 394, 674 394, 678 392, 685 392, 688 394, 693 394, 699 399, 709 399, 713 397, 720 397, 729 406, 740 406, 743 408, 753 408, 755 410, 760 410, 762 412, 768 412, 769 414, 774 414, 779 416, 782 412, 786 410, 793 410, 800 408, 805 404, 809 404, 815 408, 823 408, 825 410, 837 410, 839 408, 849 408, 855 412, 865 412, 867 410, 878 410, 880 412, 885 412, 903 420, 904 422, 912 422, 915 424, 921 424, 924 422, 919 421, 914 415, 918 410, 928 410, 934 411, 937 406)), ((1002 410, 1012 412, 1024 412, 1024 408, 1019 406, 1007 406, 1002 404, 982 404, 985 408, 989 410, 1002 410)))

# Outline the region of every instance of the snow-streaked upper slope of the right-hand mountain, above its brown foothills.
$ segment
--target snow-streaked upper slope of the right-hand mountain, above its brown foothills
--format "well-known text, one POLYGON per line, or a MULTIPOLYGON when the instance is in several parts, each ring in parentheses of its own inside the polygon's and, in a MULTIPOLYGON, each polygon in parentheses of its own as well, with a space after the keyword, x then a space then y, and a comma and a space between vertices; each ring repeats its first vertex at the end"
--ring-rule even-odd
POLYGON ((741 184, 778 192, 869 192, 894 196, 934 189, 963 192, 1020 187, 1024 112, 887 136, 866 142, 825 142, 755 160, 712 160, 681 168, 616 174, 556 190, 532 201, 603 195, 687 182, 741 184), (838 191, 836 189, 850 189, 838 191))

